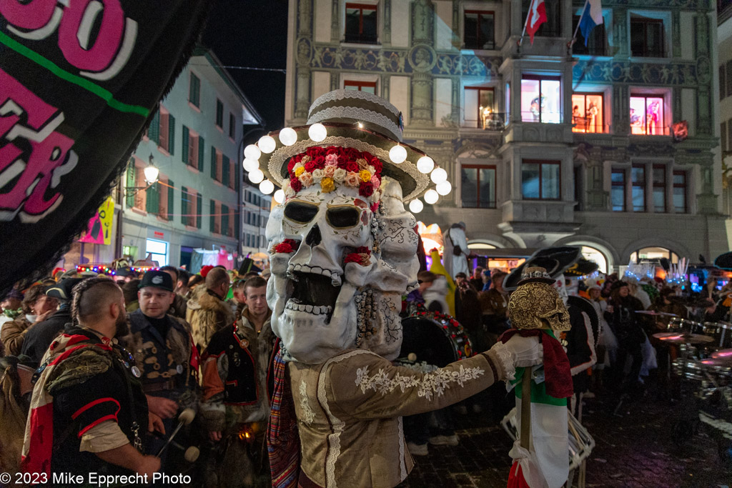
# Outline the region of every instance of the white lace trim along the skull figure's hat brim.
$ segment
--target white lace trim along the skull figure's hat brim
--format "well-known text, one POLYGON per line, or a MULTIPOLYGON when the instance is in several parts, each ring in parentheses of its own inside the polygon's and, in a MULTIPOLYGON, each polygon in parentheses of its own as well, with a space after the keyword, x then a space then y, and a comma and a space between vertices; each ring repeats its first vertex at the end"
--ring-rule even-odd
MULTIPOLYGON (((277 181, 277 184, 282 187, 285 179, 282 177, 280 170, 282 170, 285 162, 291 157, 305 152, 307 148, 313 146, 352 147, 358 151, 370 152, 374 156, 378 157, 378 159, 386 161, 386 164, 391 164, 389 163, 389 151, 373 146, 369 143, 364 142, 363 140, 346 138, 340 135, 330 135, 319 143, 313 143, 313 141, 310 139, 304 139, 297 141, 292 146, 280 147, 272 153, 272 156, 269 158, 269 165, 267 165, 267 168, 262 168, 262 170, 266 169, 266 172, 269 173, 269 178, 277 181)), ((401 163, 398 168, 411 176, 416 184, 414 191, 408 195, 404 195, 402 201, 408 202, 410 200, 414 200, 414 198, 422 195, 422 193, 427 190, 427 187, 430 186, 430 176, 425 175, 425 173, 419 172, 419 170, 417 169, 416 161, 411 162, 409 160, 406 160, 405 162, 401 163)))

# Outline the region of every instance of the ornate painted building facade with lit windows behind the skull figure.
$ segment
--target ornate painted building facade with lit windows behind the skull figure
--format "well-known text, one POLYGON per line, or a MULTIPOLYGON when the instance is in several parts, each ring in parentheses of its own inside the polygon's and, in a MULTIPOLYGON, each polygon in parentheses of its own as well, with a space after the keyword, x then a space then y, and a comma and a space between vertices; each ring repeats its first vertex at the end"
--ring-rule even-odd
POLYGON ((576 244, 608 269, 728 250, 714 2, 605 0, 573 45, 583 1, 545 0, 533 43, 529 4, 291 0, 285 124, 333 89, 386 98, 452 181, 417 217, 471 247, 576 244))

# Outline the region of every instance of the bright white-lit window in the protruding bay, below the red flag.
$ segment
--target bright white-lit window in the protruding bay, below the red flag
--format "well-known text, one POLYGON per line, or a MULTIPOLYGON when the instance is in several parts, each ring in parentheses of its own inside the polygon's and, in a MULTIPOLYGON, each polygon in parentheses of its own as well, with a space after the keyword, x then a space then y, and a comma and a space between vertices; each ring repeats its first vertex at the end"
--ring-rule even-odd
POLYGON ((561 122, 561 81, 559 76, 523 75, 521 78, 521 120, 561 122))

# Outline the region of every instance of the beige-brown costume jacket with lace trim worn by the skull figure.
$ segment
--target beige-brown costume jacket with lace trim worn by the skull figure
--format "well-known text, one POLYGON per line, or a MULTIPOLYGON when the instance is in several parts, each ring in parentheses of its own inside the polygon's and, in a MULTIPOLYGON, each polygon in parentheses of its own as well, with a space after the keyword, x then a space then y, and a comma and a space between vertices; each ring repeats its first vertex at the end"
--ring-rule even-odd
POLYGON ((323 364, 288 364, 303 472, 326 488, 395 487, 414 466, 401 417, 452 405, 503 380, 513 370, 510 353, 496 350, 429 373, 363 349, 323 364))

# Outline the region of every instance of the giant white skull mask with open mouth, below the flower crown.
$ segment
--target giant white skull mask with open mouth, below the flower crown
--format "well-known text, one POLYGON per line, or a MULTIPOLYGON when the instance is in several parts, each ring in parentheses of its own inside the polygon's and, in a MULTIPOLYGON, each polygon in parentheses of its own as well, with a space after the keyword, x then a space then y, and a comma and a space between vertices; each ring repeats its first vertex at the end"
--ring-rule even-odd
POLYGON ((358 189, 313 186, 275 207, 266 228, 267 303, 285 359, 318 364, 348 348, 396 358, 401 296, 419 269, 415 228, 400 185, 387 177, 380 203, 358 189), (274 252, 285 239, 295 242, 292 252, 274 252))

